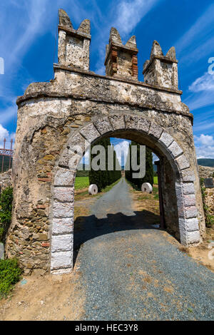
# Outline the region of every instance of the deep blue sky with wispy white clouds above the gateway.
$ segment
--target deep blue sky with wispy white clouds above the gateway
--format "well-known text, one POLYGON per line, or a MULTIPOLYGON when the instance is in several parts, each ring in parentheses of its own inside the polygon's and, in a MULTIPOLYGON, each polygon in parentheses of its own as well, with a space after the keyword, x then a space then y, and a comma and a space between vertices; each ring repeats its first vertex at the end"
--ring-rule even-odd
MULTIPOLYGON (((208 60, 214 57, 214 4, 208 0, 1 0, 0 145, 4 137, 14 138, 16 97, 29 83, 53 78, 59 8, 68 13, 76 29, 83 19, 91 20, 90 68, 96 73, 105 71, 111 26, 124 42, 136 35, 140 81, 153 40, 161 44, 163 53, 175 46, 182 100, 194 115, 198 158, 214 158, 214 74, 208 73, 208 60)), ((124 148, 128 144, 113 143, 124 148)))

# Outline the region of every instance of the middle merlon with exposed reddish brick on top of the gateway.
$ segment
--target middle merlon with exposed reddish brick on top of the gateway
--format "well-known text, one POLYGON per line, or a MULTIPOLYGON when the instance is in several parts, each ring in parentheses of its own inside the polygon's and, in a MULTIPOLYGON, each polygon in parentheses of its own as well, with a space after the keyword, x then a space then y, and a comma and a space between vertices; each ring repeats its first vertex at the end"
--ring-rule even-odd
POLYGON ((111 28, 106 46, 106 76, 138 79, 138 48, 136 36, 131 36, 123 45, 116 28, 111 28))

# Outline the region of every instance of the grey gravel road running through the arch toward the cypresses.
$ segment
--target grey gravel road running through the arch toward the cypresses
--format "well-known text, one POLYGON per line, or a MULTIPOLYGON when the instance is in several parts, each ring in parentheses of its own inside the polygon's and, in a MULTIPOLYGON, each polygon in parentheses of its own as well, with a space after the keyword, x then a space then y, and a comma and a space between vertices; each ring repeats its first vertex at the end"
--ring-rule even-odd
POLYGON ((214 319, 213 272, 132 208, 122 178, 74 232, 86 290, 84 320, 214 319))

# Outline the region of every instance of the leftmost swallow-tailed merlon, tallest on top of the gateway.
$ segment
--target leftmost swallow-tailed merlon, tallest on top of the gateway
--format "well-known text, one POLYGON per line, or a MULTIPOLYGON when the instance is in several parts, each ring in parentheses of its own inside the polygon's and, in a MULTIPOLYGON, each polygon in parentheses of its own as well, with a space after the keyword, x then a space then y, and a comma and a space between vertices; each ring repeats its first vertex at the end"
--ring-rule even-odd
POLYGON ((58 11, 58 63, 89 70, 91 27, 83 20, 77 30, 63 9, 58 11))

